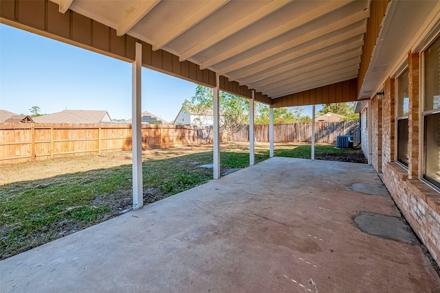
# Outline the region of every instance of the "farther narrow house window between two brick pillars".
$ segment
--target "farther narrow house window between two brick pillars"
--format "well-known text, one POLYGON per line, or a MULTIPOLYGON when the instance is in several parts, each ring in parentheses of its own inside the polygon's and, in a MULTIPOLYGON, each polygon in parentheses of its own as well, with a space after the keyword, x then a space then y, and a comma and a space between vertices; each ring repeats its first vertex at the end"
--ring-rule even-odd
POLYGON ((408 69, 397 78, 397 161, 408 166, 408 69))

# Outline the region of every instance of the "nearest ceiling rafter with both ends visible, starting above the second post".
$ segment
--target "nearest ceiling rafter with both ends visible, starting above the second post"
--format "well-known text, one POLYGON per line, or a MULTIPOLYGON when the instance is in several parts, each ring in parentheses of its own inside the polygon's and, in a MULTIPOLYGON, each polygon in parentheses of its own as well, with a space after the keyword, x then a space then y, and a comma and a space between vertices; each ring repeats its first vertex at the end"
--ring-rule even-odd
POLYGON ((357 23, 358 21, 362 21, 362 19, 367 19, 370 15, 368 10, 360 11, 356 14, 353 14, 346 19, 341 19, 340 21, 336 21, 335 23, 331 23, 329 25, 325 25, 320 27, 318 30, 311 31, 307 34, 303 34, 303 36, 299 36, 293 40, 290 40, 287 43, 283 43, 276 47, 272 47, 271 49, 262 51, 259 54, 255 54, 254 56, 250 56, 248 58, 244 58, 239 62, 234 62, 234 64, 229 65, 228 67, 224 67, 222 69, 217 70, 217 74, 223 75, 225 73, 234 71, 236 69, 240 69, 241 67, 246 67, 253 63, 264 60, 265 58, 269 58, 275 54, 280 53, 281 51, 285 51, 287 49, 291 49, 293 47, 297 47, 298 45, 309 42, 310 40, 314 40, 318 36, 324 36, 325 34, 329 34, 331 32, 336 32, 337 30, 341 30, 344 27, 352 25, 353 23, 357 23))

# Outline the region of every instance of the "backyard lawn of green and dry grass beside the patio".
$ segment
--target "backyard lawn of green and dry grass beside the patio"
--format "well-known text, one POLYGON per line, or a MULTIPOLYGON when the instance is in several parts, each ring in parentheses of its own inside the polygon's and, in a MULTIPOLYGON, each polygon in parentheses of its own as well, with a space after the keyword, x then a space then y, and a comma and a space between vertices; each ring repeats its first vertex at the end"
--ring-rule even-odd
MULTIPOLYGON (((317 145, 316 154, 340 153, 317 145)), ((269 158, 257 143, 255 162, 269 158)), ((276 156, 310 158, 310 145, 278 143, 276 156)), ((144 202, 155 202, 206 183, 212 146, 142 152, 144 202)), ((249 165, 248 143, 221 144, 221 173, 249 165)), ((69 235, 129 211, 131 154, 105 153, 0 165, 0 259, 69 235)))

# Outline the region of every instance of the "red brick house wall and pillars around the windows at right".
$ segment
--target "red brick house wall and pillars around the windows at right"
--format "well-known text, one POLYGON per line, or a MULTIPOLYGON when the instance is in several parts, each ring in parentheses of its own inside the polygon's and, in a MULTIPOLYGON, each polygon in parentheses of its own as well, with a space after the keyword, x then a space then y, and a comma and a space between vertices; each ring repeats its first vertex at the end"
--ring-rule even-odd
MULTIPOLYGON (((412 229, 440 265, 440 193, 417 178, 419 172, 419 54, 408 55, 408 169, 395 162, 395 80, 384 83, 382 161, 384 184, 412 229)), ((380 114, 379 109, 377 115, 380 114)), ((373 113, 376 115, 376 113, 373 113)), ((379 121, 379 119, 376 119, 379 121)), ((377 136, 373 132, 373 137, 377 136)), ((373 139, 374 141, 374 139, 373 139)), ((376 141, 379 141, 376 139, 376 141)), ((375 154, 373 154, 373 157, 375 154)), ((373 162, 375 159, 373 159, 373 162)))

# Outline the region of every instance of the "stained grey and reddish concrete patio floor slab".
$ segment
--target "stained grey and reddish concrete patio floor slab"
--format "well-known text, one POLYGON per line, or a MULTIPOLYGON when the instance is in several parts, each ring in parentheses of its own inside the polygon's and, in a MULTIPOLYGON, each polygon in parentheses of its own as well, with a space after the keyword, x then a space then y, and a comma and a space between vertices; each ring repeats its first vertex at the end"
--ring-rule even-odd
POLYGON ((1 292, 440 292, 418 245, 360 231, 400 217, 369 165, 272 158, 0 261, 1 292))

